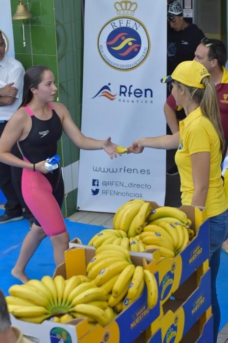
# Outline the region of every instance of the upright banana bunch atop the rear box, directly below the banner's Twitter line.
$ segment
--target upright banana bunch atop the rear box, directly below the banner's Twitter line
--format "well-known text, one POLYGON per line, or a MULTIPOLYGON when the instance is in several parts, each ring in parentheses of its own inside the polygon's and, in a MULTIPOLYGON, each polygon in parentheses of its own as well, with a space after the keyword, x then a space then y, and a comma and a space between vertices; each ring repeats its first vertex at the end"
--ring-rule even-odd
POLYGON ((117 210, 113 219, 115 230, 122 230, 128 237, 137 236, 146 225, 152 208, 150 202, 134 199, 126 202, 117 210))

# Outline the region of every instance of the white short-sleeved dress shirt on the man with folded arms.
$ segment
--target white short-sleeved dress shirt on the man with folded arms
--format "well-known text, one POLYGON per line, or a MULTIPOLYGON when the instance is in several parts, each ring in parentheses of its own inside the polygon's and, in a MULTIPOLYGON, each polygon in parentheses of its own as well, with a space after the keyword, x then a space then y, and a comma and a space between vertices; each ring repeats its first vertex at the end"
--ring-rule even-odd
POLYGON ((10 82, 14 82, 13 87, 18 89, 18 94, 12 105, 0 106, 0 120, 8 121, 21 105, 23 76, 24 68, 21 62, 5 53, 4 58, 0 61, 0 88, 3 88, 10 82))

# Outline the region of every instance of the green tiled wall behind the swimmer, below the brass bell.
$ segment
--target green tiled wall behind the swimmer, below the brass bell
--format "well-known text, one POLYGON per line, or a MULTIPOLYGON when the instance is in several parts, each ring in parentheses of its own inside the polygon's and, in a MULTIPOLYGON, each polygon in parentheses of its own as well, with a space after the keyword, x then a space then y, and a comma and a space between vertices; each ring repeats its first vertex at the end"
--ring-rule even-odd
MULTIPOLYGON (((19 0, 11 1, 12 16, 19 0)), ((32 13, 24 20, 26 46, 20 20, 13 20, 15 57, 25 69, 42 64, 51 69, 58 87, 57 97, 64 103, 80 128, 82 108, 83 22, 80 0, 29 0, 24 5, 32 13)), ((79 149, 63 134, 58 144, 62 167, 79 160, 79 149)), ((76 211, 77 190, 66 195, 63 214, 76 211)))

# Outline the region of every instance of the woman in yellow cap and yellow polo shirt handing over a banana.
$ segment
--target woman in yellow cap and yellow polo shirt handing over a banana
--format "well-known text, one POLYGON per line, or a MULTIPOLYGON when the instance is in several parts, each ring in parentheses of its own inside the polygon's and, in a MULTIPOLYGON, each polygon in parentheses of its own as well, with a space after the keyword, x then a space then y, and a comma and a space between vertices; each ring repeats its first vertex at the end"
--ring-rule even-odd
MULTIPOLYGON (((214 318, 214 343, 220 324, 216 277, 220 252, 228 238, 228 203, 221 178, 224 150, 217 93, 210 74, 196 61, 180 63, 171 76, 161 80, 172 87, 178 106, 186 118, 180 132, 159 137, 136 139, 129 152, 140 153, 144 147, 175 149, 175 162, 181 177, 182 204, 205 206, 210 230, 211 303, 214 318)), ((170 88, 171 88, 170 87, 170 88)))

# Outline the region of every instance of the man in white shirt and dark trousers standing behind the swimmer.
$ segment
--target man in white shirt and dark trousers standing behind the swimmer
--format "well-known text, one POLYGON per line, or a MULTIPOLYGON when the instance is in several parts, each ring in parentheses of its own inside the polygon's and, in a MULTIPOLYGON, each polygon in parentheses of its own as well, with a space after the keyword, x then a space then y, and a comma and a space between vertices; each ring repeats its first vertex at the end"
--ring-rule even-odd
MULTIPOLYGON (((23 65, 7 55, 5 41, 0 32, 0 135, 7 121, 16 112, 22 102, 23 65)), ((12 152, 22 158, 17 146, 12 152)), ((0 216, 0 224, 23 219, 23 207, 26 207, 21 195, 21 169, 0 163, 0 189, 6 197, 5 212, 0 216), (20 203, 21 201, 21 203, 20 203)))

